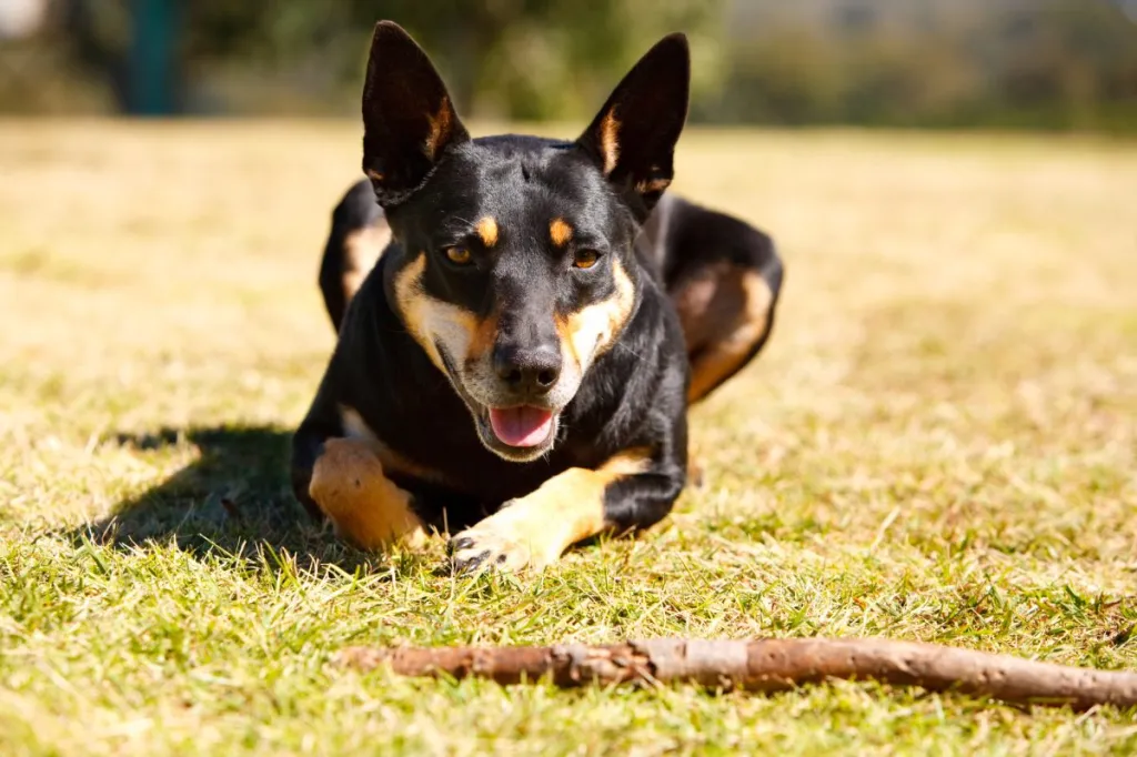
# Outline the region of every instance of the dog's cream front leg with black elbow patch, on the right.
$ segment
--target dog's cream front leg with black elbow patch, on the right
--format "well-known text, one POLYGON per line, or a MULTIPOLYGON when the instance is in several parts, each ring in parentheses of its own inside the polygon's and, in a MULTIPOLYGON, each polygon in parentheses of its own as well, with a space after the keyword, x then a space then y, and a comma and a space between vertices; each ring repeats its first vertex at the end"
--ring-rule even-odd
POLYGON ((646 529, 671 509, 683 486, 681 472, 639 450, 596 469, 570 468, 455 534, 454 564, 458 569, 536 569, 599 533, 646 529))

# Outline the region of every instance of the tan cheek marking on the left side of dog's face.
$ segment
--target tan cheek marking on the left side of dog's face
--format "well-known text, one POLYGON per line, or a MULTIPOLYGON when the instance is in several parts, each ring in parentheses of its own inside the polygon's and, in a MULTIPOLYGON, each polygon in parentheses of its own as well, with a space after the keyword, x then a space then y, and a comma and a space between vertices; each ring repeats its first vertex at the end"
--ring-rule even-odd
MULTIPOLYGON (((449 375, 438 346, 441 344, 450 358, 462 360, 470 353, 478 332, 478 319, 468 310, 443 302, 423 290, 423 272, 426 271, 426 253, 420 252, 395 276, 395 301, 402 323, 430 361, 445 375, 449 375)), ((453 378, 453 376, 451 376, 453 378)))

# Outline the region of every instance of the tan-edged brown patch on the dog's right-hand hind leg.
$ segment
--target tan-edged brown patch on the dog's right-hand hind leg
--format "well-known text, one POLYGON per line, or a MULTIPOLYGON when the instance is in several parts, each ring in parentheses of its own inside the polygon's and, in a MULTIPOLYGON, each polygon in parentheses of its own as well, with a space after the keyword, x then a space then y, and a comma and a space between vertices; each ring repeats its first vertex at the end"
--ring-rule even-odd
POLYGON ((754 271, 708 269, 675 296, 691 359, 688 402, 696 402, 742 367, 770 325, 773 292, 754 271))

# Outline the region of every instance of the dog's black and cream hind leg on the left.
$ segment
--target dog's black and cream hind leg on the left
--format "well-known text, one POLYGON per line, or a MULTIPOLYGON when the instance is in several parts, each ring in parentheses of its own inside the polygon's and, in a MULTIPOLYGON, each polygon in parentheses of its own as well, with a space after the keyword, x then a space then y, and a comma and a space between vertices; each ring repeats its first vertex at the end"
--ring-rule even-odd
POLYGON ((348 303, 391 241, 371 183, 358 182, 332 211, 332 231, 319 264, 319 291, 338 332, 348 303))

